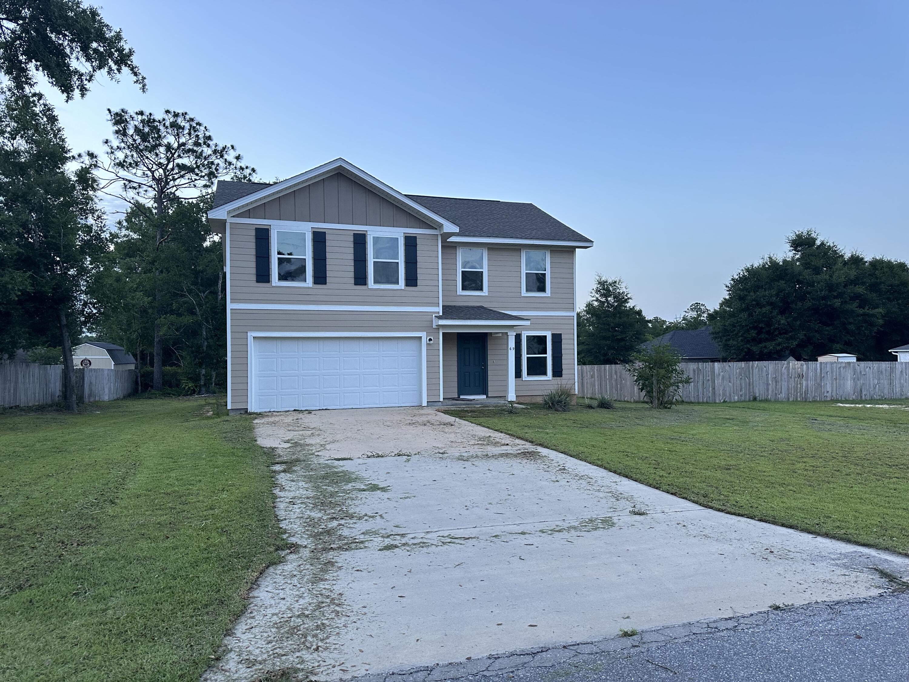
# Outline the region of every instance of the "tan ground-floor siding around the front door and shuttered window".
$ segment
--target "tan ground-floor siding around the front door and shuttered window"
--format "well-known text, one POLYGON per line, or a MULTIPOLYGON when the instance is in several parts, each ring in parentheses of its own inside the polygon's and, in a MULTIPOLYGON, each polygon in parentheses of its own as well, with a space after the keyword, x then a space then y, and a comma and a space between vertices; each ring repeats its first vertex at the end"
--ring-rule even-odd
MULTIPOLYGON (((552 332, 562 335, 562 376, 552 379, 534 379, 527 381, 514 379, 514 395, 518 400, 534 401, 556 386, 574 388, 574 317, 563 316, 528 316, 531 324, 517 329, 517 333, 552 332)), ((505 397, 508 395, 508 335, 486 335, 486 386, 488 396, 505 397)), ((445 398, 457 397, 457 333, 445 332, 442 346, 443 388, 445 398)))

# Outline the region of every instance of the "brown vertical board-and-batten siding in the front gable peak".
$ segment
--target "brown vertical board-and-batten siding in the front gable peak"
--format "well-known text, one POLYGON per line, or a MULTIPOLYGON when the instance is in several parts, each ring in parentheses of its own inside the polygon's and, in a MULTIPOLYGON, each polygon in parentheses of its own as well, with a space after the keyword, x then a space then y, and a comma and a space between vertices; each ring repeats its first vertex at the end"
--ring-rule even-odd
POLYGON ((341 173, 253 206, 238 218, 434 229, 384 196, 341 173))

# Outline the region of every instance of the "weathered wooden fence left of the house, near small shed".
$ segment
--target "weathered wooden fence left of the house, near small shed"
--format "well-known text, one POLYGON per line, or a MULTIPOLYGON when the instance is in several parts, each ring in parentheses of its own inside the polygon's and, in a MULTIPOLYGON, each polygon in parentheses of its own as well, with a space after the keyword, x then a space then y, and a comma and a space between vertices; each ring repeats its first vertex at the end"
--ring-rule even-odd
MULTIPOLYGON (((80 403, 116 400, 135 391, 135 372, 76 369, 75 399, 80 403)), ((63 399, 63 366, 0 364, 0 406, 51 405, 63 399)))

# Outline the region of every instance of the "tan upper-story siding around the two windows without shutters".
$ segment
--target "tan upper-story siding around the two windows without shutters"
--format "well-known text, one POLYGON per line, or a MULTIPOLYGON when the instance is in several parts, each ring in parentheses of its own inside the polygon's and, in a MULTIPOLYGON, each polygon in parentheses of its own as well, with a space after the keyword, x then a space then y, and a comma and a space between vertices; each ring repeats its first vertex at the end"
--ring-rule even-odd
MULTIPOLYGON (((549 249, 549 296, 522 296, 521 247, 488 246, 487 294, 465 296, 457 293, 458 246, 442 246, 442 302, 445 305, 486 306, 495 310, 574 310, 574 249, 549 249)), ((528 248, 544 249, 543 246, 528 248)))

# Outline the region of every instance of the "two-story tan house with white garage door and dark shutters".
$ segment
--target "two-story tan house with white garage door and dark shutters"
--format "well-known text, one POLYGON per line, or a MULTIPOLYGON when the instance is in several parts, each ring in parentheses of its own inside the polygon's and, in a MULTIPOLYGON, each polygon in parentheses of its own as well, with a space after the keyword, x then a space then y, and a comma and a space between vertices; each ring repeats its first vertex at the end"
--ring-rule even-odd
POLYGON ((574 386, 575 253, 533 204, 404 195, 337 159, 221 181, 227 406, 538 400, 574 386))

